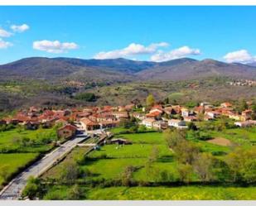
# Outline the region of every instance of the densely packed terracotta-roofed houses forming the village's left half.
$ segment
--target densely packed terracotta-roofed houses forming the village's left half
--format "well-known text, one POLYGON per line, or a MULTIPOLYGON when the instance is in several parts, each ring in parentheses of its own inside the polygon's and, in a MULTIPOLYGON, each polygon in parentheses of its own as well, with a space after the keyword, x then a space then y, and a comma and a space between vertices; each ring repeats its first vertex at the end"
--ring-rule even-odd
POLYGON ((73 108, 64 110, 40 109, 31 107, 29 110, 18 112, 13 117, 0 120, 0 125, 22 125, 26 129, 38 127, 53 127, 61 125, 58 134, 61 137, 72 137, 76 132, 74 122, 80 122, 86 131, 116 127, 122 119, 129 118, 129 112, 134 104, 124 107, 88 107, 83 109, 73 108))

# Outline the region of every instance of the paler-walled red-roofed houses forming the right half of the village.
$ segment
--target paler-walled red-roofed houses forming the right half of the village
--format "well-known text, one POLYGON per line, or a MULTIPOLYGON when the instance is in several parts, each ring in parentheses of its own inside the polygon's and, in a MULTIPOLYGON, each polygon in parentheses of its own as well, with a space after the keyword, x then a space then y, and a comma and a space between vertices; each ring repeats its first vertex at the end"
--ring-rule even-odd
POLYGON ((214 107, 210 103, 200 103, 198 107, 192 109, 185 108, 180 105, 170 105, 167 107, 155 105, 151 108, 149 113, 145 115, 133 115, 134 117, 138 117, 142 120, 142 125, 154 129, 165 129, 167 127, 182 129, 187 127, 186 122, 195 122, 198 120, 210 121, 220 116, 226 116, 238 121, 234 122, 234 125, 238 127, 256 125, 256 121, 251 119, 253 115, 253 111, 251 109, 244 110, 239 114, 234 112, 232 103, 221 103, 220 107, 214 107), (177 115, 177 118, 171 118, 177 115))

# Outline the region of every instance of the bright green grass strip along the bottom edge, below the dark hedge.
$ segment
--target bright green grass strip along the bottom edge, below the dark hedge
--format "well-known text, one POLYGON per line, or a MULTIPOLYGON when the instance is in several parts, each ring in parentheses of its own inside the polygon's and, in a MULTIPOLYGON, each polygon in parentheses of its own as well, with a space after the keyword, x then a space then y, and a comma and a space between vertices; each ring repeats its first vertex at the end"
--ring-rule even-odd
POLYGON ((92 200, 247 200, 256 199, 254 187, 112 187, 89 190, 92 200))

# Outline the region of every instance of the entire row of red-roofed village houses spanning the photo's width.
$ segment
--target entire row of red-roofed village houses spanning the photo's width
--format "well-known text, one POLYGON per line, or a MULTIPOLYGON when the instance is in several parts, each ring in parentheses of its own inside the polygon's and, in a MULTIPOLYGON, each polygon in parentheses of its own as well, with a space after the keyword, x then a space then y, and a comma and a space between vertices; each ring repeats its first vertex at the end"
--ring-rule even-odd
POLYGON ((157 104, 147 109, 147 112, 145 108, 142 108, 139 113, 133 112, 135 107, 134 103, 118 107, 104 106, 64 110, 31 107, 27 111, 17 113, 14 117, 3 118, 0 120, 0 125, 20 124, 27 129, 36 129, 40 126, 53 127, 60 124, 62 127, 58 129, 58 134, 65 138, 74 136, 77 130, 74 122, 79 122, 80 127, 85 131, 94 131, 117 127, 119 122, 130 117, 137 118, 139 123, 145 127, 158 130, 167 129, 167 127, 182 129, 187 127, 186 122, 209 121, 220 117, 220 115, 236 120, 237 122, 234 124, 238 127, 256 125, 256 121, 252 120, 252 110, 247 109, 242 113, 236 113, 231 103, 221 103, 219 107, 214 107, 210 103, 200 103, 199 106, 192 109, 181 105, 157 104))

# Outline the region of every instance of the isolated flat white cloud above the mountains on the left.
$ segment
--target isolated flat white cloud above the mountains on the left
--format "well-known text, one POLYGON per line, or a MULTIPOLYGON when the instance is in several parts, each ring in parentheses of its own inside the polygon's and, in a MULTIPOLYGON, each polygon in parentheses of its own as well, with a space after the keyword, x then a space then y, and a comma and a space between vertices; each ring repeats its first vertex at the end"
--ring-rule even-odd
POLYGON ((78 45, 74 42, 63 42, 60 41, 34 41, 33 49, 35 50, 44 50, 49 53, 65 53, 68 50, 75 50, 78 48, 78 45))

